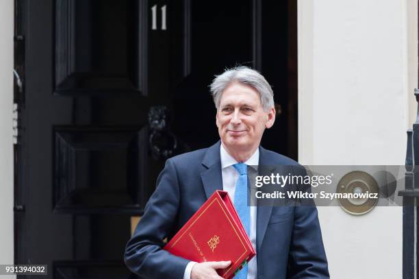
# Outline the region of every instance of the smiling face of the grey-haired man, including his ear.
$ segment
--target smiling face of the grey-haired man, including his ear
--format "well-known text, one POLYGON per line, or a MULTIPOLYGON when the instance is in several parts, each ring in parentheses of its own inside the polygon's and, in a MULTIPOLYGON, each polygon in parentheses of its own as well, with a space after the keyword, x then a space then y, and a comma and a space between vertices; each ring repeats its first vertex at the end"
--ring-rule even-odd
POLYGON ((257 90, 240 82, 231 83, 221 94, 216 115, 221 141, 231 152, 255 151, 265 128, 275 121, 274 108, 265 112, 257 90))

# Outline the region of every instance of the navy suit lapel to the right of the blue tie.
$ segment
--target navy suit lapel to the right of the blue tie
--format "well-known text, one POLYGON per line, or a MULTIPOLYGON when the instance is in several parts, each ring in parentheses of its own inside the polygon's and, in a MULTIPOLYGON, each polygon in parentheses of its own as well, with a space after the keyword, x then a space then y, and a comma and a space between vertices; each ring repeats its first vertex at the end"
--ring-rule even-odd
MULTIPOLYGON (((269 165, 268 153, 263 147, 259 147, 259 173, 258 175, 270 175, 270 168, 267 169, 269 165)), ((272 166, 273 167, 273 166, 272 166)), ((272 206, 263 205, 257 206, 257 219, 256 219, 256 245, 257 252, 260 252, 260 247, 262 246, 262 241, 264 240, 266 227, 268 226, 268 221, 270 219, 270 214, 272 213, 272 206)))

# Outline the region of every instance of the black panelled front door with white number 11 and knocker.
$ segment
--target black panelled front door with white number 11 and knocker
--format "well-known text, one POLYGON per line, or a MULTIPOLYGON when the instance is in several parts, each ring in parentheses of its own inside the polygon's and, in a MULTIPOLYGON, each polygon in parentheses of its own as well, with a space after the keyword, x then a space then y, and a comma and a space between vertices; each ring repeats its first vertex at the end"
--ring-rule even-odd
POLYGON ((281 113, 262 144, 296 157, 296 8, 275 2, 16 1, 16 263, 132 276, 131 217, 166 158, 218 140, 207 86, 225 67, 267 77, 281 113))

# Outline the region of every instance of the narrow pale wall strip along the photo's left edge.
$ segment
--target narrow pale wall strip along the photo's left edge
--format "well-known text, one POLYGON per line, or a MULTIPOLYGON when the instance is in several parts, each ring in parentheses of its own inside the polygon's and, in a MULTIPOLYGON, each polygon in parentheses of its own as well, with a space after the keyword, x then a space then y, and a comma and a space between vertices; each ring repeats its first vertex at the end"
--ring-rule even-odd
POLYGON ((0 1, 0 264, 13 263, 13 11, 0 1))

